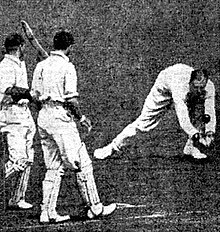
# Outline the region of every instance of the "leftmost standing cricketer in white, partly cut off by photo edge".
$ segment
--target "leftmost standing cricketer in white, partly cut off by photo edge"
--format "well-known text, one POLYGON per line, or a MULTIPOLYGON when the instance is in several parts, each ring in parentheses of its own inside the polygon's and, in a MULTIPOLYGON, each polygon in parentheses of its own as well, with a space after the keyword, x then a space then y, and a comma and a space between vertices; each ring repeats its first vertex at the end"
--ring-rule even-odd
POLYGON ((5 178, 18 172, 16 188, 9 200, 11 208, 29 209, 25 201, 31 164, 34 159, 33 137, 35 124, 28 108, 28 90, 24 53, 24 39, 13 33, 5 39, 6 54, 0 63, 0 125, 7 133, 9 160, 5 164, 5 178))

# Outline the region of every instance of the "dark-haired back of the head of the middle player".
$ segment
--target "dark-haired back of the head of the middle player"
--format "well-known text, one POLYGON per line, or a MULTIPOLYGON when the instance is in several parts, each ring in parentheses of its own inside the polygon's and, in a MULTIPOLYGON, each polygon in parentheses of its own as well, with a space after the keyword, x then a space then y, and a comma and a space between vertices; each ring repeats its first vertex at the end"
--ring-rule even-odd
POLYGON ((73 35, 67 31, 59 31, 53 38, 55 50, 67 50, 74 43, 73 35))

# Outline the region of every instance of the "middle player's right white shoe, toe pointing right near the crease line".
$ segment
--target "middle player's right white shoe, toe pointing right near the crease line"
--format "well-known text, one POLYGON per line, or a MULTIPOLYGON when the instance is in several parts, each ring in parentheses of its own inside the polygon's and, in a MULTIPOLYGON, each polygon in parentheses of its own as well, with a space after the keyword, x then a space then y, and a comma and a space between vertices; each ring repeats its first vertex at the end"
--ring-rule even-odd
POLYGON ((115 203, 112 203, 112 204, 107 205, 107 206, 104 206, 104 205, 102 205, 102 203, 100 203, 99 206, 101 207, 101 208, 99 207, 99 209, 98 209, 98 210, 100 210, 99 213, 95 212, 92 209, 88 210, 87 216, 88 216, 89 219, 109 216, 117 208, 117 205, 115 203))

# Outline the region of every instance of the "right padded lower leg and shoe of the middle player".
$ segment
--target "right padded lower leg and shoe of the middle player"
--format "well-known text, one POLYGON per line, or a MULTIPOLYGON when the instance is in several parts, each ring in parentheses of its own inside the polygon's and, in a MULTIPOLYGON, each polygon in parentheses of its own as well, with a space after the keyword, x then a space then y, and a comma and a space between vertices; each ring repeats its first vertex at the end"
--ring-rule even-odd
POLYGON ((76 173, 76 180, 84 203, 89 207, 87 216, 92 219, 96 216, 107 216, 116 209, 116 204, 103 206, 100 202, 95 179, 93 176, 93 167, 89 158, 85 144, 79 150, 81 170, 76 173))

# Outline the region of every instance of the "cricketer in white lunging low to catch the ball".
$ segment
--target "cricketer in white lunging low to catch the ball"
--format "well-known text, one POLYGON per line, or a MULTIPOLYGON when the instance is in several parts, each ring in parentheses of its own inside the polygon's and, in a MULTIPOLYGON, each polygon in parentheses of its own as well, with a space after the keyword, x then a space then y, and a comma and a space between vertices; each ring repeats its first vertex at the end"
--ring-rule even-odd
POLYGON ((141 115, 109 145, 95 150, 94 156, 104 159, 125 146, 138 131, 148 132, 155 128, 171 104, 175 106, 180 126, 188 135, 184 154, 195 159, 206 158, 203 151, 211 146, 216 126, 215 87, 206 70, 194 70, 185 64, 170 66, 159 73, 141 115), (200 115, 203 126, 196 126, 192 120, 195 117, 191 117, 199 104, 204 108, 200 115))

